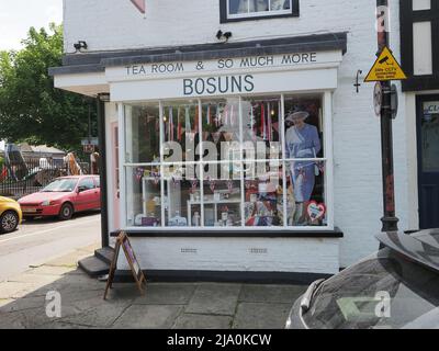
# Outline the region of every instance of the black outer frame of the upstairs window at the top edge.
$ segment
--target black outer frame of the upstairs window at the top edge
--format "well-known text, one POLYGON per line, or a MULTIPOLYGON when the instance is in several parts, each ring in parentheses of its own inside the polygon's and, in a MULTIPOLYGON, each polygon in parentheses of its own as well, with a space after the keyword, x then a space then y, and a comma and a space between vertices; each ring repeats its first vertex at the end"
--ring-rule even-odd
POLYGON ((241 13, 229 15, 229 0, 219 0, 219 23, 229 23, 229 22, 241 22, 241 21, 257 21, 257 20, 269 20, 269 19, 282 19, 282 18, 299 18, 300 15, 300 0, 291 0, 291 9, 279 11, 280 13, 275 14, 275 11, 267 11, 266 12, 254 12, 254 13, 241 13))

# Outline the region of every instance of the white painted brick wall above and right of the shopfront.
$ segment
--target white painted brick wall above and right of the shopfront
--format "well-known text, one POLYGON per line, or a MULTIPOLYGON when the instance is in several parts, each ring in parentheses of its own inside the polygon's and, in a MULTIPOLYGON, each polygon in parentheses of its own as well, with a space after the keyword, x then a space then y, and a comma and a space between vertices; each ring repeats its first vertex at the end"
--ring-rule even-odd
MULTIPOLYGON (((300 18, 219 24, 218 0, 146 0, 144 18, 128 0, 65 0, 65 49, 83 39, 90 50, 215 43, 218 29, 233 42, 347 31, 348 52, 334 94, 335 218, 345 231, 344 267, 378 248, 382 188, 380 123, 372 107, 373 84, 353 88, 358 69, 365 75, 376 52, 375 1, 301 0, 300 18)), ((391 0, 392 49, 399 58, 397 0, 391 0)), ((406 129, 404 99, 394 124, 396 206, 401 228, 408 229, 406 129)), ((413 126, 415 127, 415 126, 413 126)), ((280 263, 281 265, 281 263, 280 263)))

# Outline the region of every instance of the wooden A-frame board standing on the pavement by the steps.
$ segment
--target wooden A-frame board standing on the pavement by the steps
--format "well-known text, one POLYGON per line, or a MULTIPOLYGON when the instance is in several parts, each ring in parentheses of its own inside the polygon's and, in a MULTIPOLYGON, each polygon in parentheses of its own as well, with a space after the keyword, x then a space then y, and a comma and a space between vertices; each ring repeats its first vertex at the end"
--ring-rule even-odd
POLYGON ((106 295, 110 288, 113 287, 114 275, 117 270, 117 258, 119 253, 121 252, 121 248, 125 253, 126 260, 128 261, 130 269, 133 273, 133 278, 137 284, 138 290, 140 291, 142 294, 145 293, 144 284, 146 283, 146 278, 142 271, 140 264, 137 261, 133 247, 131 246, 128 236, 126 235, 126 233, 122 231, 116 239, 116 246, 114 248, 114 257, 113 261, 111 262, 109 280, 106 281, 105 294, 103 296, 103 299, 106 299, 106 295))

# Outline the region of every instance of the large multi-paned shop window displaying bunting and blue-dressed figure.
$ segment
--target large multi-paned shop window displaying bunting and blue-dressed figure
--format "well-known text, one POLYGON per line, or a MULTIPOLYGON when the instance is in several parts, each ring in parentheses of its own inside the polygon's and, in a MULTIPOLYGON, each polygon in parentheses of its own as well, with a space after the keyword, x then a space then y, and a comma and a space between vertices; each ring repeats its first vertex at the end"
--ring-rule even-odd
POLYGON ((329 227, 323 95, 125 105, 130 228, 329 227))

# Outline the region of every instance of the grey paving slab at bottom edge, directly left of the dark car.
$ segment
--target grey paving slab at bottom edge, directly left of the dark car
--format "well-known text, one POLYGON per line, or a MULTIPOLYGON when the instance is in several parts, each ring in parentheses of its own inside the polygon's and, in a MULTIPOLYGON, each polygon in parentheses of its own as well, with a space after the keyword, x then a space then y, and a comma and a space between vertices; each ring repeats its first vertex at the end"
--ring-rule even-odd
POLYGON ((292 304, 239 303, 235 329, 283 329, 292 304))

